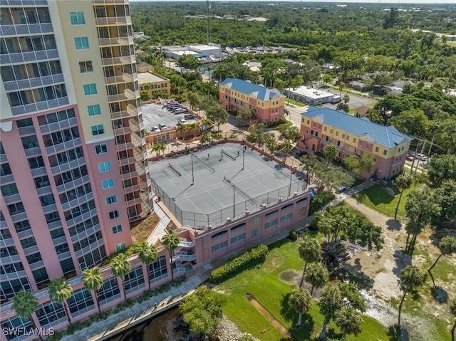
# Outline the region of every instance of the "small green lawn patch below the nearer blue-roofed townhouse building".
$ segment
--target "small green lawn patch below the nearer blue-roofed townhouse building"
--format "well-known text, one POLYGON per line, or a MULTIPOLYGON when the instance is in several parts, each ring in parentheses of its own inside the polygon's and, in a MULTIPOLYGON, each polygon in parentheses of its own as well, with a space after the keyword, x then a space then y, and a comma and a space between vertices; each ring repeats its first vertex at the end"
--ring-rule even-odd
MULTIPOLYGON (((390 216, 394 218, 396 205, 398 204, 400 191, 397 187, 391 186, 395 196, 390 196, 386 190, 381 187, 379 184, 375 184, 362 192, 358 193, 357 199, 361 201, 371 209, 375 209, 385 216, 390 216)), ((400 199, 399 209, 398 209, 398 219, 405 219, 405 203, 407 202, 407 196, 410 192, 415 189, 415 186, 412 184, 412 187, 405 189, 402 199, 400 199)))

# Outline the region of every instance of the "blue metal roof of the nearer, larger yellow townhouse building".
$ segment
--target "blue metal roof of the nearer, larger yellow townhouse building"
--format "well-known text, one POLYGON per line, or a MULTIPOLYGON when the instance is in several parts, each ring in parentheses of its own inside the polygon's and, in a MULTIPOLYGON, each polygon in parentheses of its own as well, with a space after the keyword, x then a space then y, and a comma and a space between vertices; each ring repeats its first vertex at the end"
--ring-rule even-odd
POLYGON ((348 115, 343 110, 333 110, 328 107, 309 107, 309 110, 301 113, 301 115, 309 118, 318 117, 319 120, 327 125, 332 125, 358 137, 367 135, 374 142, 385 147, 395 147, 404 140, 413 140, 413 137, 399 132, 393 125, 385 127, 371 122, 368 117, 355 117, 348 115))

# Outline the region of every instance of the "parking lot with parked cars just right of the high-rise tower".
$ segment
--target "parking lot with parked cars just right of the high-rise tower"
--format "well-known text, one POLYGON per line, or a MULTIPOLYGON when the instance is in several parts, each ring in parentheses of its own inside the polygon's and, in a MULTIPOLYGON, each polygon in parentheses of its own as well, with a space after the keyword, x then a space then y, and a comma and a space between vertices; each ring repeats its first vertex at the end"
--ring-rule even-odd
MULTIPOLYGON (((166 107, 159 104, 142 105, 142 121, 145 129, 152 131, 152 127, 166 125, 168 128, 177 126, 177 121, 182 120, 185 115, 190 115, 190 112, 174 115, 166 107)), ((195 120, 187 120, 188 123, 194 123, 195 120)))

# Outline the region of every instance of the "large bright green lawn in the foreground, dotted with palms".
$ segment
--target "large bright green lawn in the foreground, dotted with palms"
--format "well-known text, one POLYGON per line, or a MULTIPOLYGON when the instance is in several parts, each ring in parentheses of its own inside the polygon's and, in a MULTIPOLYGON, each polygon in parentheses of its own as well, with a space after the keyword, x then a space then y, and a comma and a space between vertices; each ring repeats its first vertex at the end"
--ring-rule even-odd
MULTIPOLYGON (((318 331, 323 324, 323 316, 318 312, 318 305, 314 303, 303 321, 309 321, 306 328, 297 330, 293 327, 298 315, 288 305, 288 297, 294 286, 279 279, 282 271, 296 269, 301 271, 304 263, 297 251, 298 243, 288 240, 279 241, 269 247, 270 253, 266 261, 256 268, 242 271, 229 280, 217 286, 227 295, 227 305, 223 312, 227 317, 239 325, 243 332, 249 332, 261 341, 282 340, 282 335, 252 306, 246 298, 253 295, 271 315, 276 318, 297 340, 316 340, 318 331), (261 334, 261 330, 267 330, 261 334), (313 330, 311 336, 309 331, 313 330)), ((337 327, 330 324, 329 328, 337 327)), ((363 332, 358 337, 348 336, 347 340, 371 341, 388 340, 385 327, 372 318, 364 318, 363 332)))

